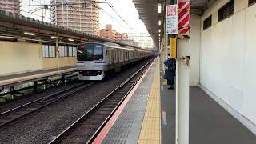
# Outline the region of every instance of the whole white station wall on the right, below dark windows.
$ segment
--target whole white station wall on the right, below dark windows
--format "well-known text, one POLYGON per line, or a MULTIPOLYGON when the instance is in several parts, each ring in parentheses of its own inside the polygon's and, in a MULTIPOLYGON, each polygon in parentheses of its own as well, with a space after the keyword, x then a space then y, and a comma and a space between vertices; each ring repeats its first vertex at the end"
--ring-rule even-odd
POLYGON ((256 4, 234 1, 234 14, 218 22, 218 0, 202 16, 212 14, 212 26, 202 30, 200 84, 256 125, 256 4))

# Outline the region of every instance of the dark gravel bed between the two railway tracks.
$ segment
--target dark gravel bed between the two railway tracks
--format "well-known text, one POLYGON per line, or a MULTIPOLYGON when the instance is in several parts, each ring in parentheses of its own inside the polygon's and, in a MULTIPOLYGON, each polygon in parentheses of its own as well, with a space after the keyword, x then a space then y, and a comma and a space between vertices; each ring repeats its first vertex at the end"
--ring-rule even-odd
POLYGON ((106 82, 96 83, 89 89, 83 90, 82 93, 64 98, 37 113, 30 114, 30 116, 4 127, 0 130, 0 143, 38 144, 50 142, 51 138, 70 126, 141 66, 142 64, 134 66, 106 82))

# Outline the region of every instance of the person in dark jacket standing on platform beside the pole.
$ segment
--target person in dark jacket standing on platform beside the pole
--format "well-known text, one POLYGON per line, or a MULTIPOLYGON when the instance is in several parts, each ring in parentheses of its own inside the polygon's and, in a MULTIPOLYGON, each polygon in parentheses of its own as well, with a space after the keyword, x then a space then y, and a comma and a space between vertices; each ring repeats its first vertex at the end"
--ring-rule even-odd
POLYGON ((168 59, 164 62, 166 66, 165 70, 165 79, 167 79, 167 85, 170 85, 168 89, 174 89, 174 75, 176 73, 176 60, 175 58, 170 58, 170 54, 168 54, 168 59))

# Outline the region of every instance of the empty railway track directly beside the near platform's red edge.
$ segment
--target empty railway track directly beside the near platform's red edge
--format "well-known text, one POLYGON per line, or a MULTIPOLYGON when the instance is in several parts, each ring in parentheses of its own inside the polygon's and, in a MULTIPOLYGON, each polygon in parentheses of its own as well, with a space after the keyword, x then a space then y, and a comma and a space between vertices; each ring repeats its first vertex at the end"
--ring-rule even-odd
POLYGON ((91 143, 100 132, 109 118, 114 114, 118 106, 121 105, 130 90, 136 85, 142 75, 146 72, 147 66, 152 62, 147 62, 140 70, 135 72, 130 78, 108 94, 102 101, 98 102, 86 114, 78 118, 72 125, 58 134, 50 144, 55 143, 91 143))

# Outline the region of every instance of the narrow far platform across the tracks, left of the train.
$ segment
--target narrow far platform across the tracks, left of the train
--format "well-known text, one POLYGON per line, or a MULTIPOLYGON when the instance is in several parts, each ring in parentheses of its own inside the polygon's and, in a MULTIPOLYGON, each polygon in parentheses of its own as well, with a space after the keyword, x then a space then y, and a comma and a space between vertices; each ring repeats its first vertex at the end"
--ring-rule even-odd
POLYGON ((38 70, 34 72, 27 72, 22 74, 11 74, 6 76, 0 76, 0 86, 10 87, 17 84, 22 84, 26 82, 34 82, 42 80, 48 77, 53 77, 60 74, 70 74, 77 70, 76 66, 66 66, 60 69, 50 69, 50 70, 38 70))

